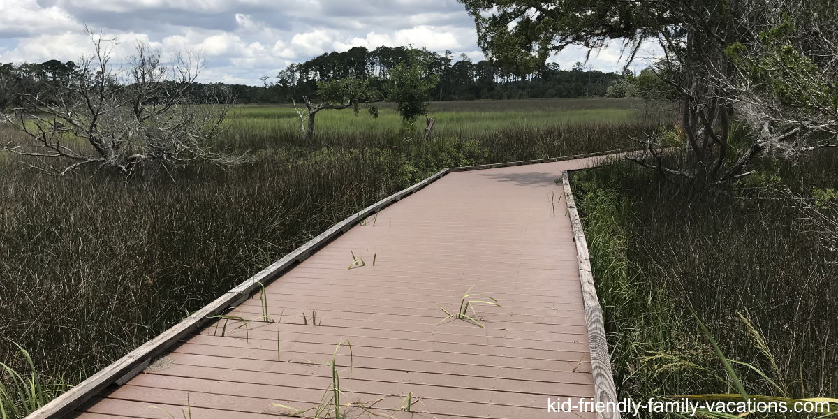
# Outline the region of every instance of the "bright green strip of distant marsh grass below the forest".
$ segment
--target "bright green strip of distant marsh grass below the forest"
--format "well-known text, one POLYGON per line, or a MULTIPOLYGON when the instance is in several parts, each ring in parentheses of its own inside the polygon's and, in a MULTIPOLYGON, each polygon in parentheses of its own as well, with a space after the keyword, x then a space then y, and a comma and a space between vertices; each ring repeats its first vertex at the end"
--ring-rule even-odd
MULTIPOLYGON (((403 132, 395 109, 378 106, 378 118, 365 112, 355 116, 351 110, 318 113, 312 143, 300 137, 299 118, 291 106, 241 106, 219 144, 236 150, 396 147, 402 153, 427 154, 427 144, 419 140, 422 124, 403 132)), ((431 113, 437 119, 434 137, 472 142, 493 163, 634 147, 634 137, 675 122, 669 106, 620 99, 436 102, 431 113)), ((463 164, 448 164, 453 165, 463 164)))

